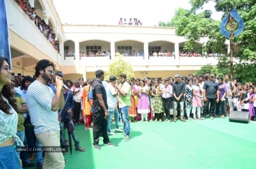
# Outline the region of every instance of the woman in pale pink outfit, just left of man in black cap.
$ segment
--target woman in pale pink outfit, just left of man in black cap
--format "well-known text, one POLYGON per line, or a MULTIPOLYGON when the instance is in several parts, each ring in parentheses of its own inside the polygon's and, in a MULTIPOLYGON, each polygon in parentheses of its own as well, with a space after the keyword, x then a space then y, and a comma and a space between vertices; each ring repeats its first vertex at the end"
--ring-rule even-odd
POLYGON ((198 119, 200 120, 200 113, 202 107, 202 89, 200 89, 199 81, 195 80, 195 85, 193 85, 193 98, 192 98, 192 113, 194 115, 194 120, 196 120, 196 108, 198 112, 198 119))

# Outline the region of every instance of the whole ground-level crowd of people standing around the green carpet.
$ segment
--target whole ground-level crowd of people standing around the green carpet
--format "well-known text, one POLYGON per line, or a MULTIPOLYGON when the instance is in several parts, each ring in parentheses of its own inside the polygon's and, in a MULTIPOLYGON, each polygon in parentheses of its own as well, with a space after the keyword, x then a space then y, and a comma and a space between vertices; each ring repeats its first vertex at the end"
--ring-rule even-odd
POLYGON ((65 129, 72 135, 76 151, 79 145, 76 126, 93 130, 93 147, 100 150, 99 136, 104 145, 115 146, 108 135, 124 132, 125 142, 131 140, 131 122, 182 122, 223 118, 232 111, 249 112, 256 121, 256 88, 250 82, 230 81, 228 75, 189 75, 164 80, 145 77, 128 79, 124 73, 118 79, 111 75, 104 80, 104 71, 95 71, 95 78, 84 82, 63 80, 55 74, 54 64, 41 60, 33 77, 15 76, 8 60, 0 57, 0 166, 3 168, 64 168, 67 162, 65 129), (65 84, 65 85, 64 85, 65 84), (67 88, 66 88, 67 87, 67 88), (115 118, 113 118, 115 116, 115 118), (115 128, 111 128, 115 122, 115 128), (123 123, 124 129, 120 128, 123 123), (24 147, 26 151, 18 151, 24 147), (33 147, 61 147, 59 152, 35 151, 33 147), (32 149, 31 149, 32 148, 32 149), (43 154, 45 154, 43 158, 43 154), (5 158, 13 156, 15 158, 5 158), (13 161, 14 159, 14 161, 13 161))

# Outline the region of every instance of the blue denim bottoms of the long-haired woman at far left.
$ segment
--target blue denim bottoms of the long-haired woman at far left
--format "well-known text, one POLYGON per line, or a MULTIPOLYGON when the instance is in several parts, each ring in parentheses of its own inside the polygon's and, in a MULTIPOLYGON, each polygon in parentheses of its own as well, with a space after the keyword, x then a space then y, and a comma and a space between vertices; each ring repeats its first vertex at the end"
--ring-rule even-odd
POLYGON ((15 145, 0 147, 0 168, 1 169, 22 169, 20 158, 15 145))

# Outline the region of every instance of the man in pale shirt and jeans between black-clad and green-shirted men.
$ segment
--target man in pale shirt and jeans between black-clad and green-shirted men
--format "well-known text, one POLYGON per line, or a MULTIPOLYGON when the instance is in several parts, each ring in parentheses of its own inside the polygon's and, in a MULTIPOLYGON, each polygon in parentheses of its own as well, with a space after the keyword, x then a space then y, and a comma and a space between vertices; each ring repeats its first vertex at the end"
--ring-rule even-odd
POLYGON ((114 88, 116 84, 116 77, 114 75, 111 75, 109 77, 109 83, 102 81, 102 85, 106 89, 107 94, 107 101, 108 101, 108 134, 109 135, 116 135, 116 133, 111 131, 111 119, 113 114, 115 114, 115 124, 116 128, 115 131, 123 132, 122 129, 119 128, 119 113, 117 110, 117 104, 118 104, 118 90, 114 88))

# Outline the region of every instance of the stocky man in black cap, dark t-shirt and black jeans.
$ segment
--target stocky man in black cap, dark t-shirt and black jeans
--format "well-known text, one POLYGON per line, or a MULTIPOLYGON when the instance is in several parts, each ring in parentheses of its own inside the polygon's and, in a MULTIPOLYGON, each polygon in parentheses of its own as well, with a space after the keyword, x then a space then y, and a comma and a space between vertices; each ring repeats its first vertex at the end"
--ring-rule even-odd
POLYGON ((214 81, 214 74, 210 75, 209 80, 204 83, 204 112, 201 120, 205 119, 205 115, 209 112, 209 103, 210 105, 210 118, 214 119, 214 109, 216 107, 216 102, 219 102, 220 92, 219 85, 214 81))

